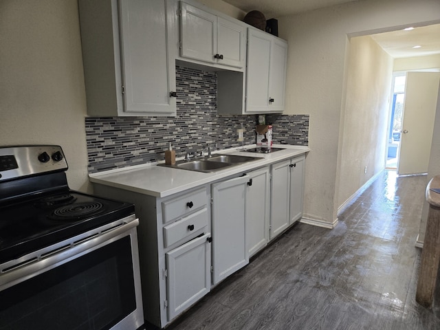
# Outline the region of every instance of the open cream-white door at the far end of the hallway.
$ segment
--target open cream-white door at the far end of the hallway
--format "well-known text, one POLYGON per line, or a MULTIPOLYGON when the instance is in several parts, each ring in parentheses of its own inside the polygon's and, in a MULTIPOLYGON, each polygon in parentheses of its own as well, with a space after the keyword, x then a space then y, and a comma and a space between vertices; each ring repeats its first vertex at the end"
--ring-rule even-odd
POLYGON ((408 72, 404 101, 399 175, 428 172, 440 73, 408 72))

